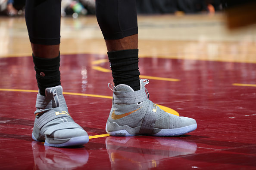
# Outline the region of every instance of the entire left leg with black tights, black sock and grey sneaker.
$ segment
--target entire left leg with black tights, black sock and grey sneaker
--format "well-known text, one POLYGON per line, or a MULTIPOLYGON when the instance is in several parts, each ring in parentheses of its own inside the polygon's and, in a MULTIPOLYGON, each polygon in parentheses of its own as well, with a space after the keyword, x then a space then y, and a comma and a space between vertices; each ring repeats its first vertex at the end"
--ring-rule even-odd
POLYGON ((32 138, 47 146, 88 142, 87 133, 69 115, 59 72, 61 0, 26 0, 25 18, 36 71, 36 118, 32 138))

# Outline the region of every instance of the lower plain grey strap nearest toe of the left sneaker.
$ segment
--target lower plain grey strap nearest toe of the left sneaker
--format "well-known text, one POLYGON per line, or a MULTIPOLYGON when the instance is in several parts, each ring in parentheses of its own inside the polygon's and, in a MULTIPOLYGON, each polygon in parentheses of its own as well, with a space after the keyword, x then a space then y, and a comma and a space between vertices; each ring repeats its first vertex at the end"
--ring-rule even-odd
POLYGON ((71 129, 71 128, 80 128, 80 129, 83 129, 81 126, 79 126, 79 125, 76 124, 75 122, 63 122, 63 123, 59 123, 59 124, 56 124, 56 125, 51 126, 51 127, 46 127, 45 129, 42 128, 42 129, 41 129, 41 132, 42 132, 43 134, 50 135, 50 134, 52 134, 53 132, 55 132, 55 131, 57 131, 57 130, 71 129))

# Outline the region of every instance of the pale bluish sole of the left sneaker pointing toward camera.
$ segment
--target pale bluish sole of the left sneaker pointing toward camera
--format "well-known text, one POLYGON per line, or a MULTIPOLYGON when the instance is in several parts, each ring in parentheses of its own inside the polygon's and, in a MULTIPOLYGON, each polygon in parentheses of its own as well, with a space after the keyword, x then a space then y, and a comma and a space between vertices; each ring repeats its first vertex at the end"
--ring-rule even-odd
MULTIPOLYGON (((41 142, 41 141, 36 140, 36 138, 34 137, 33 134, 32 134, 32 139, 37 141, 37 142, 41 142)), ((45 146, 53 146, 53 147, 65 147, 65 146, 84 145, 88 142, 89 142, 89 137, 88 136, 81 136, 81 137, 72 137, 72 138, 70 138, 69 141, 64 142, 64 143, 59 143, 59 144, 47 143, 47 141, 45 141, 44 145, 45 146)))

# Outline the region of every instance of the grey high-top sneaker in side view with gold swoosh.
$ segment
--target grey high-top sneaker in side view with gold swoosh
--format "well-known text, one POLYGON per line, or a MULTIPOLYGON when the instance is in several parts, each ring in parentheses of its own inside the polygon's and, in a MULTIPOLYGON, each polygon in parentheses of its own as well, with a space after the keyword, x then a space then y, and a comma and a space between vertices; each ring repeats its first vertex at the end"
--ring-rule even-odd
MULTIPOLYGON (((128 85, 117 85, 113 91, 113 103, 106 123, 111 136, 178 136, 197 128, 193 118, 172 115, 149 100, 144 87, 149 80, 140 80, 140 90, 128 85)), ((109 84, 111 85, 111 84, 109 84)))

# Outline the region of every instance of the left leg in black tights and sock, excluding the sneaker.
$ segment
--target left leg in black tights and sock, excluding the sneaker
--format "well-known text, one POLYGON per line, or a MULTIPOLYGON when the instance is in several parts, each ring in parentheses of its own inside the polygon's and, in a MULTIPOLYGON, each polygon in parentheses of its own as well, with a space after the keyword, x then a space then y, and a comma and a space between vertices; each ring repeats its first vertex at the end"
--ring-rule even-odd
POLYGON ((60 84, 61 0, 26 0, 25 19, 33 51, 37 85, 42 95, 45 88, 60 84))

